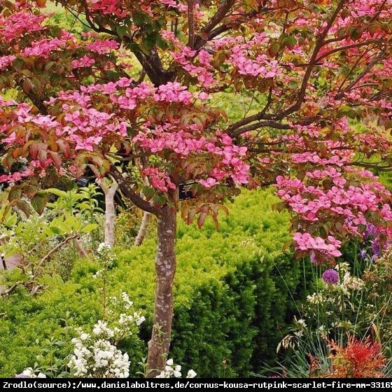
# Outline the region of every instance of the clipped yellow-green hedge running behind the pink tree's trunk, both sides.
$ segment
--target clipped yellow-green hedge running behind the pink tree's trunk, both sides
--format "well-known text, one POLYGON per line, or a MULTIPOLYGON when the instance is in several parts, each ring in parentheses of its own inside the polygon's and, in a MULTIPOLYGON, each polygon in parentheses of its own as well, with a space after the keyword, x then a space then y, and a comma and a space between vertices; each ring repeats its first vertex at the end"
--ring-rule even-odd
MULTIPOLYGON (((179 223, 170 356, 199 377, 246 377, 274 360, 295 311, 293 299, 304 294, 300 263, 283 251, 290 241, 288 215, 271 211, 274 202, 270 190, 244 192, 218 230, 212 222, 202 230, 179 223)), ((140 339, 132 336, 122 346, 135 374, 152 327, 155 240, 129 250, 119 246, 117 253, 108 293, 126 291, 147 318, 140 339)), ((69 281, 53 279, 42 295, 18 290, 0 301, 1 377, 32 365, 45 338, 69 342, 64 318, 85 326, 101 317, 99 281, 92 279, 98 268, 97 262, 77 262, 69 281)), ((64 356, 71 345, 54 351, 64 356)))

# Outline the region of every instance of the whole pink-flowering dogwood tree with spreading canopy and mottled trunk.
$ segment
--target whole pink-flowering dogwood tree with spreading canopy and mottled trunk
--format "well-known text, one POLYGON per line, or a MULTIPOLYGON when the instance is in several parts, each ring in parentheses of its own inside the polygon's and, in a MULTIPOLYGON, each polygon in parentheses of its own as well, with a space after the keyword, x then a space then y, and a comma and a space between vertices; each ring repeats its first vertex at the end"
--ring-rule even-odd
POLYGON ((0 4, 0 88, 15 96, 0 99, 0 181, 42 211, 45 188, 90 167, 156 216, 150 370, 169 351, 177 211, 201 226, 239 186, 275 184, 297 255, 332 263, 392 221, 370 172, 392 165, 392 0, 56 1, 81 37, 47 2, 0 4), (223 94, 244 97, 239 120, 223 94))

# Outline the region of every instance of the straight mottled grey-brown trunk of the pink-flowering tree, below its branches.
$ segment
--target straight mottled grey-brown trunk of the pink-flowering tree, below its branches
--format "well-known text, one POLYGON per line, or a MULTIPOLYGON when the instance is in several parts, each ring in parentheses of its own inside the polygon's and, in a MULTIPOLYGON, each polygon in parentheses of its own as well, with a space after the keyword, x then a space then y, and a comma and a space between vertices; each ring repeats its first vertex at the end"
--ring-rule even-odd
POLYGON ((176 272, 176 209, 163 206, 157 214, 158 246, 155 255, 155 302, 153 335, 148 342, 147 377, 165 369, 173 318, 173 281, 176 272))

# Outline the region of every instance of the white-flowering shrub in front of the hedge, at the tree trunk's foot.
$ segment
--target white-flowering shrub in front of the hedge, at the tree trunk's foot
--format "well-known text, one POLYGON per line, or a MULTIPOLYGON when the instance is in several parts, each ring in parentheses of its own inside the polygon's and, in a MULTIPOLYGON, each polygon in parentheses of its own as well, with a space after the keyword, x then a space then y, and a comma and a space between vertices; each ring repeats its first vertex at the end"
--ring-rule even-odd
MULTIPOLYGON (((34 369, 27 367, 15 377, 94 377, 94 378, 127 378, 130 377, 130 358, 127 353, 118 349, 121 340, 137 332, 138 327, 146 318, 139 311, 132 311, 133 302, 127 293, 120 296, 108 296, 109 269, 113 266, 115 256, 111 246, 99 244, 97 261, 100 269, 94 274, 99 279, 102 293, 102 317, 86 332, 76 328, 76 337, 71 339, 73 353, 66 359, 59 360, 64 371, 59 373, 51 368, 42 370, 36 365, 34 369), (46 374, 45 374, 46 373, 46 374)), ((57 358, 58 359, 58 358, 57 358)), ((194 370, 189 370, 187 378, 196 376, 194 370)), ((159 378, 181 377, 181 365, 174 365, 173 360, 167 360, 165 370, 158 374, 159 378)))

